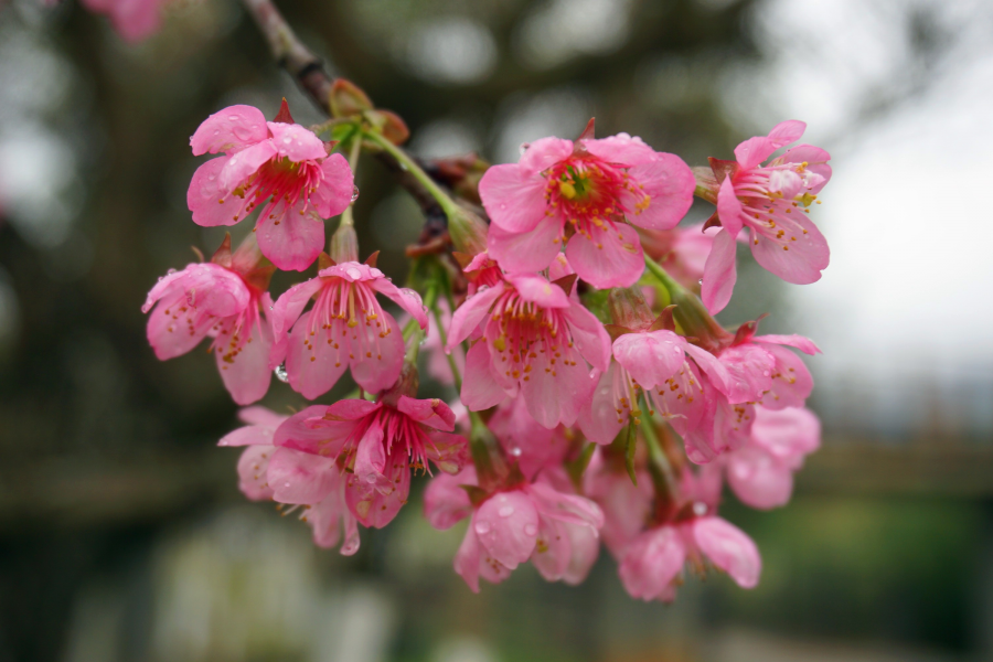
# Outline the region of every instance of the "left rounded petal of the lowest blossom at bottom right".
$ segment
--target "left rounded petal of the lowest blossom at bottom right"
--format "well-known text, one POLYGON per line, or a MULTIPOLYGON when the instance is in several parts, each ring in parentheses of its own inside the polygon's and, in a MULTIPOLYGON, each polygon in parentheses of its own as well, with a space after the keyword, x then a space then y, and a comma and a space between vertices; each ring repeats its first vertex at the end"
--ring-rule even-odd
POLYGON ((679 532, 660 526, 642 533, 628 546, 618 575, 632 598, 648 602, 666 595, 685 560, 686 548, 679 532))

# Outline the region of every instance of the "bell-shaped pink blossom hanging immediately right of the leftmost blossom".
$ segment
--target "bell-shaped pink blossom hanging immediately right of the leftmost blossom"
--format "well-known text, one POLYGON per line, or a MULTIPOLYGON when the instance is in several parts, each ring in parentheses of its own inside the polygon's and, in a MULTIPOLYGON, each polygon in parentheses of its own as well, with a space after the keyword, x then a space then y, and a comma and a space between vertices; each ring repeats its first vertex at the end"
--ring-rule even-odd
POLYGON ((313 399, 334 386, 348 367, 370 393, 393 386, 403 366, 404 340, 396 320, 380 306, 377 292, 413 316, 421 329, 427 327, 417 292, 396 287, 381 270, 359 263, 321 269, 317 278, 279 297, 273 311, 275 355, 286 356, 295 391, 313 399), (311 299, 313 307, 303 312, 311 299))

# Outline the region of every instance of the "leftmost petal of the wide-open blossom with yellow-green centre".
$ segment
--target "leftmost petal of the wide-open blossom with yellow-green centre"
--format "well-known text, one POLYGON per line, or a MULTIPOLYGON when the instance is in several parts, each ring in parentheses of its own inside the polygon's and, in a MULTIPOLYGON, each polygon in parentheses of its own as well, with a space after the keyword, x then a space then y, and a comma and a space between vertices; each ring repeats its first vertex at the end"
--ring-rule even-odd
POLYGON ((545 179, 513 163, 493 166, 479 182, 490 221, 508 232, 531 232, 545 217, 545 179))

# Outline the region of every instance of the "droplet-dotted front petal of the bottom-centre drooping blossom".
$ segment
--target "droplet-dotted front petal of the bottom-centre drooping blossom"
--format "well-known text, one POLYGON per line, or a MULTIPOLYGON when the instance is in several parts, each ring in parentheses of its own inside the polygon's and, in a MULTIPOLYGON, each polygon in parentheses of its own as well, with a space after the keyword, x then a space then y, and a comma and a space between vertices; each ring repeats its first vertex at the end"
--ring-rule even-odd
POLYGON ((537 511, 520 491, 494 494, 479 506, 472 521, 483 548, 511 570, 531 556, 537 527, 537 511))

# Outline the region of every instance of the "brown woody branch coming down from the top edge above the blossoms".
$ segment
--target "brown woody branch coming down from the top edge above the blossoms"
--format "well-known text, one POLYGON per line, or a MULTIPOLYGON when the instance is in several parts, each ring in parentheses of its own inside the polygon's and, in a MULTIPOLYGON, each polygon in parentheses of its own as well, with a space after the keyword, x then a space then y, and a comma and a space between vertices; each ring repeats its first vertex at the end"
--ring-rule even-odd
MULTIPOLYGON (((310 96, 311 100, 330 116, 330 95, 334 81, 328 75, 320 58, 297 38, 293 29, 286 22, 271 0, 242 1, 266 41, 269 42, 269 51, 279 66, 285 68, 300 88, 310 96)), ((427 217, 428 225, 436 228, 440 221, 444 228, 447 218, 434 196, 410 173, 401 168, 399 163, 388 153, 381 151, 376 158, 394 175, 397 183, 414 196, 427 217)))

